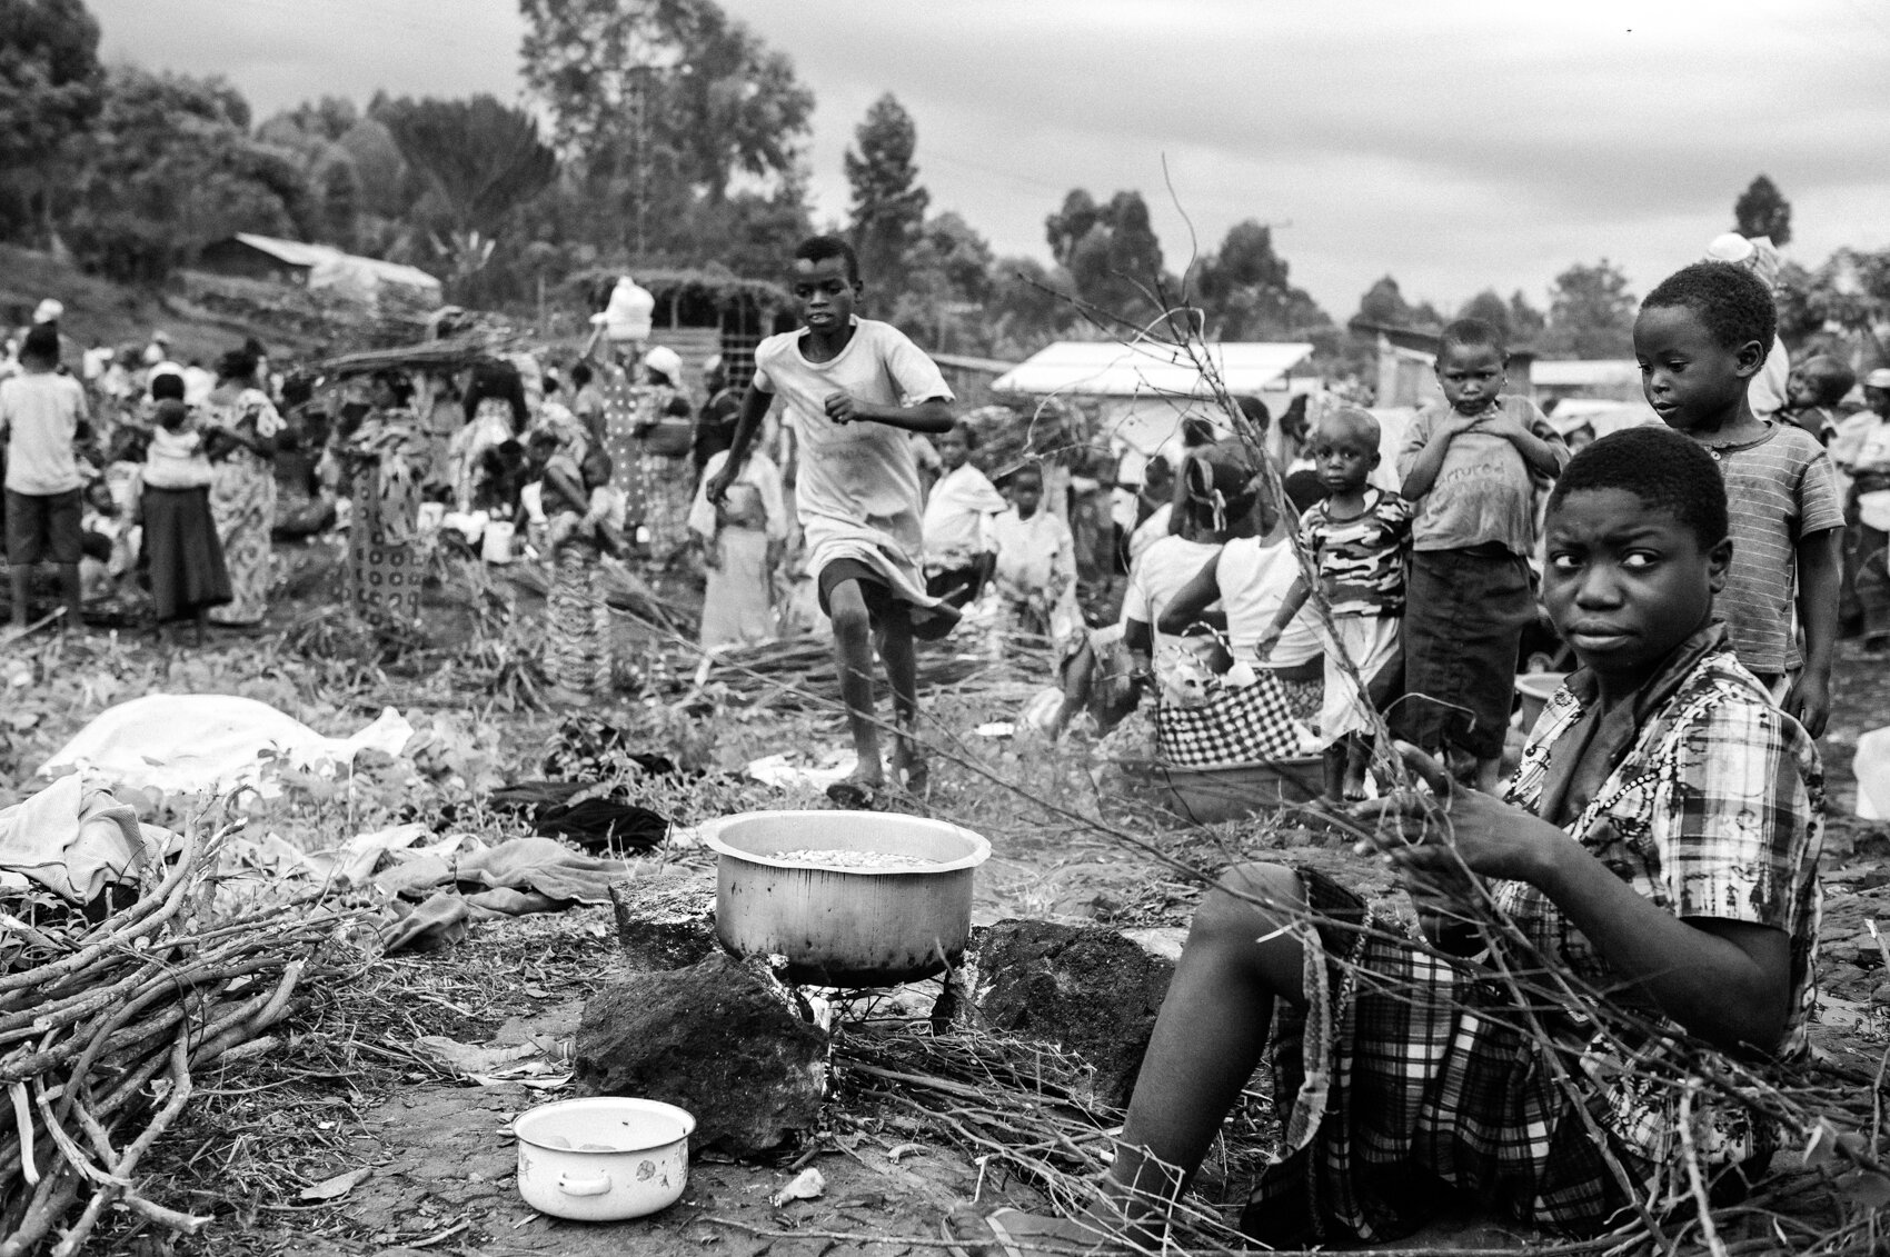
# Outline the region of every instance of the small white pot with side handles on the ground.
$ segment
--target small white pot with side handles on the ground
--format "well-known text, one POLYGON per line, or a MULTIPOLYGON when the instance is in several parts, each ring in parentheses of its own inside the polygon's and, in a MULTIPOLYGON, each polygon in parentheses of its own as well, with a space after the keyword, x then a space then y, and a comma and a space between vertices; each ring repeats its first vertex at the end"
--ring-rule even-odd
POLYGON ((660 1100, 595 1096, 541 1104, 512 1123, 518 1195, 582 1223, 669 1208, 690 1181, 696 1117, 660 1100))

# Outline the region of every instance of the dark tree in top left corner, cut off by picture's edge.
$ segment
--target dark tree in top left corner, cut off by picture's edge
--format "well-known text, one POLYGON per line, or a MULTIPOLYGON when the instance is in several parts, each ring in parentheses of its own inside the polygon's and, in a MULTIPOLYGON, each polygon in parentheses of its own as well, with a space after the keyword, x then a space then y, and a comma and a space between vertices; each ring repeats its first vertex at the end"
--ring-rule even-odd
POLYGON ((0 227, 51 229, 53 172, 98 113, 98 23, 81 0, 0 0, 0 227))

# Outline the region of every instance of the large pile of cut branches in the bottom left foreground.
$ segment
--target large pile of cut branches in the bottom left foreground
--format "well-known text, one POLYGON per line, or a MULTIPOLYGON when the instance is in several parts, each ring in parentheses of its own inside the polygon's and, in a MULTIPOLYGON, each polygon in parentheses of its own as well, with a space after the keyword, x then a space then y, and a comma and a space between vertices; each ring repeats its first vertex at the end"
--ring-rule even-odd
POLYGON ((47 894, 8 894, 0 1255, 76 1253, 112 1206, 191 1234, 210 1223, 144 1198, 138 1166, 198 1074, 274 1045, 266 1030, 350 921, 282 905, 217 915, 215 847, 195 824, 168 858, 149 845, 136 898, 96 922, 47 894))

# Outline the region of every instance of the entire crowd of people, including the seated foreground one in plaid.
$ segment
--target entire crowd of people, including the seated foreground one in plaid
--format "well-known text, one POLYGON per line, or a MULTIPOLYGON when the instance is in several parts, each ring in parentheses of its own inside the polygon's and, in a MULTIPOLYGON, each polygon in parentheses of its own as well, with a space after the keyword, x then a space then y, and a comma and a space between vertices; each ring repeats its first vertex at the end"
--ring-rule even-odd
POLYGON ((858 314, 866 278, 835 236, 784 259, 799 327, 756 348, 739 391, 711 365, 699 408, 662 348, 635 382, 605 359, 312 382, 257 344, 193 374, 153 340, 125 380, 93 384, 62 374, 55 310, 0 382, 13 624, 30 624, 42 561, 77 620, 93 537, 112 561, 130 544, 93 531, 113 514, 138 524, 129 569, 163 622, 257 624, 272 533, 335 518, 352 601, 410 620, 433 505, 431 525, 482 531, 493 558, 520 529, 550 558, 546 662, 584 697, 609 684, 601 558, 671 531, 707 573, 705 646, 781 631, 798 599, 832 626, 856 750, 830 790, 845 807, 926 786, 919 643, 970 612, 1040 635, 1062 660, 1051 733, 1145 701, 1172 764, 1323 754, 1331 815, 1404 879, 1421 934, 1312 868, 1227 873, 1096 1208, 1004 1210, 975 1238, 1151 1240, 1270 1043, 1291 1047, 1287 1145, 1244 1217, 1255 1236, 1382 1240, 1446 1189, 1599 1231, 1637 1198, 1703 1191, 1671 1178, 1680 1128, 1688 1172, 1714 1183, 1777 1147, 1767 1119, 1663 1085, 1639 1053, 1805 1049, 1814 739, 1845 620, 1890 648, 1890 370, 1839 418, 1850 372, 1792 370, 1763 251, 1726 251, 1641 304, 1658 423, 1565 440, 1506 391, 1501 333, 1461 319, 1438 342, 1440 399, 1389 465, 1378 416, 1315 397, 1281 416, 1276 476, 1255 454, 1272 416, 1242 399, 1228 423, 1183 422, 1134 484, 1066 476, 1072 493, 1126 488, 1108 624, 1077 603, 1096 512, 1055 508, 1040 461, 977 465, 939 369, 858 314), (1544 618, 1576 667, 1504 788, 1518 662, 1544 618), (1387 724, 1397 745, 1378 741, 1387 724), (1588 1004, 1518 983, 1544 966, 1588 1004))

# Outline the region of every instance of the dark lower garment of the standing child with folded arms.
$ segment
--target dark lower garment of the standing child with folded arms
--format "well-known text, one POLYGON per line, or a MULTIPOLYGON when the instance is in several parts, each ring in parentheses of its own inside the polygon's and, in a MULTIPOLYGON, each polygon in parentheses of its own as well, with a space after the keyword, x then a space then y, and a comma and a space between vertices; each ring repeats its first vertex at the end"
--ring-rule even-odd
POLYGON ((1499 544, 1412 554, 1404 611, 1404 696, 1391 728, 1404 741, 1503 754, 1523 628, 1535 622, 1529 563, 1499 544))

